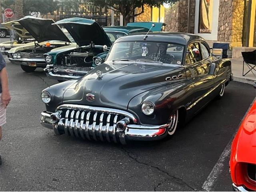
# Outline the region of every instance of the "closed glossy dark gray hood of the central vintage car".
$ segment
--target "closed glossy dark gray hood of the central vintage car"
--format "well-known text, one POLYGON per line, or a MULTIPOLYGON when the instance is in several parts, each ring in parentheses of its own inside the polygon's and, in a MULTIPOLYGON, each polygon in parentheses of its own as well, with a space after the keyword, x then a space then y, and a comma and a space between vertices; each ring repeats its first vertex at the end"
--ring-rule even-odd
POLYGON ((134 96, 170 84, 172 82, 166 81, 166 77, 183 72, 184 68, 180 66, 103 63, 68 88, 63 95, 63 102, 126 110, 134 96), (97 71, 102 73, 100 77, 97 71), (95 100, 87 101, 86 94, 94 94, 95 100))

